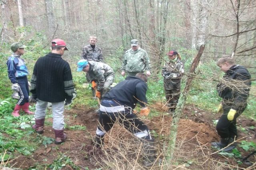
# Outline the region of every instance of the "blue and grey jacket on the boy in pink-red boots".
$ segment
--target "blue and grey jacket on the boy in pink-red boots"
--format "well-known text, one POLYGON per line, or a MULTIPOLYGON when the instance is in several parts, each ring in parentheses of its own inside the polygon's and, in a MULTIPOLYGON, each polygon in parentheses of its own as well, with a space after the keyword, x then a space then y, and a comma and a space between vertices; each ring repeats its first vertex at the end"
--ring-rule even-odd
POLYGON ((12 84, 17 83, 17 77, 24 77, 28 75, 28 68, 25 65, 24 60, 17 54, 12 54, 7 60, 8 77, 12 84))

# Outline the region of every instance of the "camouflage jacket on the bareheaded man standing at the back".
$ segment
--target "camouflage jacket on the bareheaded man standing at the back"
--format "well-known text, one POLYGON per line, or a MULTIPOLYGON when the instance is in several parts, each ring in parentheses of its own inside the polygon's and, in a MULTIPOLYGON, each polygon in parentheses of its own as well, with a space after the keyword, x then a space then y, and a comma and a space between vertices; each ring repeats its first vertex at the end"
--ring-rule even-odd
POLYGON ((82 52, 82 59, 88 60, 88 61, 96 61, 96 62, 102 62, 103 56, 101 48, 95 45, 95 48, 92 49, 91 45, 84 46, 83 52, 82 52))

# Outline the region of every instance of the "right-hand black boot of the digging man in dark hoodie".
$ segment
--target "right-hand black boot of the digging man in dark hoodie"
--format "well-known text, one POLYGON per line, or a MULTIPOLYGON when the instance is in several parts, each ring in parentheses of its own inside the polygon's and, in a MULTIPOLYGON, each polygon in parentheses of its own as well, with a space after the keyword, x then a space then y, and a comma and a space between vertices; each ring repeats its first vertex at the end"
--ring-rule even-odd
POLYGON ((154 148, 154 139, 143 140, 144 158, 143 165, 150 167, 155 162, 156 150, 154 148))

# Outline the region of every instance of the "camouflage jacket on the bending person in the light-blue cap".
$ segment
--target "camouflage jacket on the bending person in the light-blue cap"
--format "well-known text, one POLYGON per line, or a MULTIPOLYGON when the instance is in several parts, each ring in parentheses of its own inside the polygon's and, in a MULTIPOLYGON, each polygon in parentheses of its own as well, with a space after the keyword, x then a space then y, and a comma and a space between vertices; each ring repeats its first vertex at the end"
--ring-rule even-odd
POLYGON ((88 72, 90 80, 98 82, 98 91, 101 91, 104 87, 105 79, 109 76, 114 76, 114 70, 105 63, 89 61, 90 70, 88 72))

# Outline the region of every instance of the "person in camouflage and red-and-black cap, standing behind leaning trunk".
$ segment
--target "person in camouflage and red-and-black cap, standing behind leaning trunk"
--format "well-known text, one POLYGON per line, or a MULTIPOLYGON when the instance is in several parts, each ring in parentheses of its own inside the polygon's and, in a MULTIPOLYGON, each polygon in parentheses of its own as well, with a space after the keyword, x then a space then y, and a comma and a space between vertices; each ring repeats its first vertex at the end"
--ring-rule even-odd
POLYGON ((172 50, 166 55, 169 56, 170 60, 162 69, 162 76, 164 77, 164 91, 168 107, 170 108, 169 112, 174 112, 180 98, 180 82, 184 69, 178 52, 172 50))

